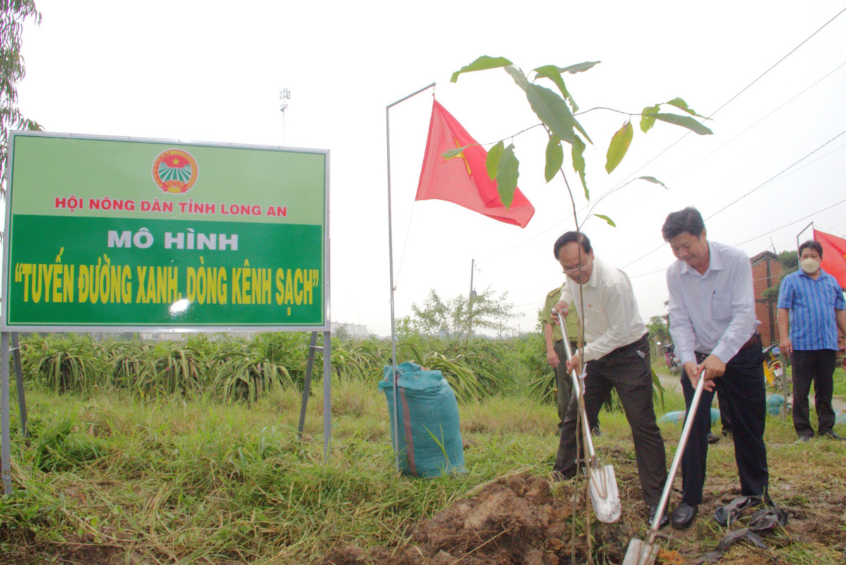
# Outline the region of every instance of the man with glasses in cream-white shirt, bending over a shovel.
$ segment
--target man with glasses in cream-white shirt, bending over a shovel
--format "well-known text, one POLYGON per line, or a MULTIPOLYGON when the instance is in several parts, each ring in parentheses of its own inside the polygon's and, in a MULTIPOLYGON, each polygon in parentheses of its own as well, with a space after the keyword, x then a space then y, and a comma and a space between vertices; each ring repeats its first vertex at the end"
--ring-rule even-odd
MULTIPOLYGON (((574 352, 567 370, 581 372, 582 363, 587 364, 585 410, 591 422, 596 420, 611 389, 617 391, 631 426, 640 486, 651 523, 667 480, 667 463, 652 407, 648 333, 631 282, 617 267, 596 259, 591 241, 584 233, 564 233, 555 242, 553 252, 567 275, 556 310, 564 312, 567 304, 574 303, 587 343, 581 352, 574 352)), ((561 428, 558 455, 552 468, 567 479, 576 474, 578 414, 574 396, 561 428)), ((661 525, 665 524, 666 513, 661 525)))

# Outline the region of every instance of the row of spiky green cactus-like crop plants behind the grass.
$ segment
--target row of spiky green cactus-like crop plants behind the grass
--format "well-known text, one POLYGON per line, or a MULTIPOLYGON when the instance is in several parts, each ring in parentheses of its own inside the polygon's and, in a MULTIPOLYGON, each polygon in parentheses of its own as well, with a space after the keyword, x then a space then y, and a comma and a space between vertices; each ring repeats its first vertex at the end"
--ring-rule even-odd
MULTIPOLYGON (((27 380, 53 392, 82 397, 128 392, 138 400, 253 403, 266 393, 299 388, 305 378, 306 333, 259 333, 252 339, 198 335, 184 342, 146 343, 134 338, 96 341, 70 334, 21 338, 27 380)), ((470 401, 513 391, 518 382, 551 376, 540 336, 464 341, 410 334, 398 356, 442 370, 459 399, 470 401)), ((332 374, 342 381, 375 382, 389 363, 390 343, 332 338, 332 374)), ((322 359, 316 357, 315 376, 322 359)), ((542 397, 546 391, 539 391, 542 397)))

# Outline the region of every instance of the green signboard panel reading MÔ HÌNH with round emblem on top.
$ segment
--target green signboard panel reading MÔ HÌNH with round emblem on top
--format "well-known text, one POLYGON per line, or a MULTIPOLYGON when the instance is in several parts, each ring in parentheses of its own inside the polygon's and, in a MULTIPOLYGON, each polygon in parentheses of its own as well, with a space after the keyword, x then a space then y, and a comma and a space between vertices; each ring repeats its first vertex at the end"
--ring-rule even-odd
POLYGON ((14 132, 3 328, 328 330, 328 151, 14 132))

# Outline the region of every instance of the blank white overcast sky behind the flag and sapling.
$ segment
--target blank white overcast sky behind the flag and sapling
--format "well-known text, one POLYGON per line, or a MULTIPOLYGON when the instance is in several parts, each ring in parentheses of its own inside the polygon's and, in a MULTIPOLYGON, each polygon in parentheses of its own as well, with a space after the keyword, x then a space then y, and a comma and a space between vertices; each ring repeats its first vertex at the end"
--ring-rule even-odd
MULTIPOLYGON (((595 209, 617 228, 584 227, 596 255, 632 277, 646 319, 666 312, 673 256, 660 229, 670 211, 699 207, 709 239, 749 255, 795 249, 810 222, 846 234, 844 0, 36 5, 43 20, 25 30, 19 107, 47 131, 330 150, 332 321, 380 335, 390 333, 385 107, 437 82, 438 101, 482 143, 538 122, 501 69, 449 84, 480 55, 525 70, 602 61, 566 78, 583 110, 640 112, 682 96, 713 114, 706 137, 665 123, 642 134, 635 123, 611 175, 605 151, 626 118, 580 117, 595 143, 585 151, 591 204, 633 176, 668 187, 629 184, 595 209)), ((430 288, 468 293, 475 259, 475 288, 507 292, 519 312, 513 329, 530 330, 562 282, 552 244, 574 225, 563 181, 543 179, 546 135, 514 138, 519 187, 536 207, 520 229, 414 202, 430 112, 431 91, 391 110, 397 315, 430 288)), ((585 217, 583 196, 577 205, 585 217)))

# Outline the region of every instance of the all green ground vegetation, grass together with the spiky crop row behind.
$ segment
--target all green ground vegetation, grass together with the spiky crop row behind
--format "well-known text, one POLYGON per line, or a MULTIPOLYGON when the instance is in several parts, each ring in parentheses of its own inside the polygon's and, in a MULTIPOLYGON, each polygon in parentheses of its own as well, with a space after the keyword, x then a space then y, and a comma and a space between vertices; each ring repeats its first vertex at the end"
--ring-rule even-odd
MULTIPOLYGON (((376 388, 388 347, 376 340, 333 343, 325 462, 320 395, 310 401, 303 441, 296 440, 305 334, 165 343, 31 336, 22 344, 31 437, 20 436, 13 409, 15 491, 0 498, 3 565, 299 565, 348 545, 394 551, 414 543, 420 520, 487 481, 518 470, 546 476, 558 444, 554 403, 530 387, 547 370, 536 334, 470 340, 466 348, 421 336, 401 343, 401 360, 441 360, 463 391, 468 473, 437 480, 394 472, 387 404, 376 388)), ((684 405, 674 392, 665 396, 658 414, 684 405)), ((603 415, 602 431, 600 457, 614 464, 625 493, 624 525, 614 531, 627 543, 645 524, 624 414, 603 415)), ((679 432, 662 425, 668 459, 679 432)), ((778 417, 767 420, 766 442, 774 498, 797 524, 831 530, 822 541, 810 526, 806 535, 773 533, 767 555, 839 562, 846 447, 827 440, 799 446, 789 420, 778 417), (837 488, 820 489, 821 476, 837 488)), ((733 446, 711 449, 706 489, 720 502, 735 496, 733 446)), ((695 546, 689 538, 668 546, 697 553, 716 546, 726 532, 703 516, 695 546)), ((748 551, 736 546, 728 562, 748 551)))

